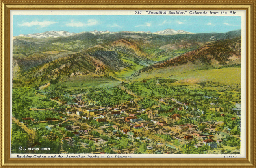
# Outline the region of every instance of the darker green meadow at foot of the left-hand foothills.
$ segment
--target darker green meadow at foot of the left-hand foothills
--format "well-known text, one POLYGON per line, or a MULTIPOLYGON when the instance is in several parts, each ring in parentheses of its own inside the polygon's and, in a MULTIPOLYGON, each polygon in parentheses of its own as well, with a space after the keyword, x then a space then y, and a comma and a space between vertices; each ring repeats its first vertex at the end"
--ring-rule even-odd
POLYGON ((49 88, 60 87, 63 90, 77 90, 87 89, 92 87, 114 87, 121 83, 121 81, 111 77, 98 77, 91 75, 74 76, 67 81, 59 82, 54 85, 50 85, 49 88))

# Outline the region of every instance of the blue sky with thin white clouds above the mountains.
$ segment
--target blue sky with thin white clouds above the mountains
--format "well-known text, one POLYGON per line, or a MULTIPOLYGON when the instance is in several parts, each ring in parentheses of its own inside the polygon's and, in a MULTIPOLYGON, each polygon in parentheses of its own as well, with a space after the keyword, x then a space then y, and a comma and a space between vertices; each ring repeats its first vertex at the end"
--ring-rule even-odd
POLYGON ((13 36, 52 30, 156 32, 167 28, 222 33, 241 29, 241 16, 13 15, 13 36))

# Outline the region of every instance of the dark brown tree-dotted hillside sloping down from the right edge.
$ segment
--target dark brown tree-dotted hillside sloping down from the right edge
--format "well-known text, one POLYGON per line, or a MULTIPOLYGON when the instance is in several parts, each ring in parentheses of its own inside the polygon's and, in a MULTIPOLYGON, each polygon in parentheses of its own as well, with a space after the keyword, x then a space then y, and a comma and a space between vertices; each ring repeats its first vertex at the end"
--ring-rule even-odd
POLYGON ((213 67, 235 63, 241 64, 241 38, 212 42, 176 58, 156 63, 150 67, 145 67, 141 69, 140 72, 155 68, 184 65, 189 62, 196 63, 197 65, 207 64, 213 67))

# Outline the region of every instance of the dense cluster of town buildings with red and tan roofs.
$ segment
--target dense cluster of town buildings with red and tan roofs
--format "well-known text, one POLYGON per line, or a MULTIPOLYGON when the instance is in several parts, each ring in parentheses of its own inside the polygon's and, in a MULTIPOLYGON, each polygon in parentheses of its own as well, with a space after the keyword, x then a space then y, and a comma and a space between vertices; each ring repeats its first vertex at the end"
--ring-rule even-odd
MULTIPOLYGON (((179 107, 175 107, 176 111, 182 111, 189 108, 188 103, 182 103, 173 98, 159 99, 158 106, 160 107, 161 103, 167 103, 168 101, 173 101, 179 105, 179 107)), ((171 111, 173 111, 175 108, 171 109, 171 111)), ((239 105, 236 105, 236 110, 239 110, 239 108, 241 109, 241 106, 239 107, 239 105)), ((197 110, 200 112, 200 114, 204 114, 204 111, 200 109, 194 108, 193 110, 197 110)), ((209 110, 222 112, 222 108, 217 107, 215 104, 211 104, 209 110)), ((225 113, 221 113, 221 116, 224 117, 225 113)), ((202 132, 202 130, 200 130, 197 125, 193 125, 191 123, 178 125, 177 121, 181 120, 182 117, 184 116, 181 116, 180 113, 172 114, 169 117, 161 117, 157 116, 155 111, 149 109, 140 110, 134 100, 131 100, 124 105, 116 105, 113 107, 98 107, 89 103, 85 105, 82 99, 79 98, 78 103, 67 108, 65 112, 63 112, 63 116, 61 116, 59 119, 48 118, 46 120, 46 122, 56 120, 63 121, 62 124, 47 125, 45 128, 52 131, 52 129, 55 129, 56 126, 64 127, 67 131, 72 132, 76 137, 90 139, 97 143, 98 146, 102 146, 106 141, 100 137, 95 138, 93 135, 89 135, 91 128, 82 126, 82 123, 87 122, 87 120, 95 120, 98 123, 104 123, 103 126, 96 128, 101 133, 103 133, 104 128, 112 127, 111 131, 104 132, 104 135, 107 135, 108 137, 114 136, 115 138, 120 139, 122 133, 136 141, 150 142, 150 145, 147 146, 147 150, 159 148, 175 148, 175 146, 164 144, 162 142, 158 142, 156 146, 152 145, 156 140, 153 139, 151 135, 170 135, 174 139, 180 141, 181 144, 189 143, 191 139, 197 139, 198 144, 194 145, 195 148, 200 148, 204 145, 208 145, 211 148, 217 148, 217 144, 222 142, 223 139, 220 138, 215 128, 222 125, 223 122, 201 122, 206 126, 205 129, 208 131, 208 134, 206 134, 202 132), (144 117, 141 117, 142 114, 143 116, 146 114, 147 118, 145 119, 144 117), (65 123, 64 121, 70 117, 79 121, 81 125, 67 122, 65 123), (143 130, 141 131, 139 129, 143 130), (145 134, 146 131, 150 132, 150 135, 145 134), (143 138, 141 138, 141 134, 143 134, 143 138)), ((236 117, 233 117, 232 120, 236 120, 236 117)), ((34 122, 34 119, 23 118, 22 121, 24 123, 28 123, 29 121, 34 122)), ((52 135, 49 135, 48 138, 54 138, 51 136, 52 135)), ((74 144, 74 139, 71 137, 65 137, 63 140, 66 140, 70 145, 74 144)), ((131 151, 128 150, 122 152, 131 151)))

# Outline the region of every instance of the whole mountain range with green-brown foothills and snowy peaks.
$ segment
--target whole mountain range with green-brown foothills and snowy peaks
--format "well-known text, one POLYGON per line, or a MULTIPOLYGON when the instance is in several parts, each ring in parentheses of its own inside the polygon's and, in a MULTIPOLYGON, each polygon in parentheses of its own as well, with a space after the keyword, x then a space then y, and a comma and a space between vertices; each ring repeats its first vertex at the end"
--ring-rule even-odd
POLYGON ((95 30, 46 34, 13 38, 14 87, 65 83, 76 76, 132 81, 163 72, 167 76, 241 65, 241 29, 197 34, 171 29, 155 33, 95 30))

